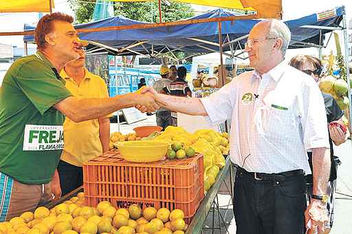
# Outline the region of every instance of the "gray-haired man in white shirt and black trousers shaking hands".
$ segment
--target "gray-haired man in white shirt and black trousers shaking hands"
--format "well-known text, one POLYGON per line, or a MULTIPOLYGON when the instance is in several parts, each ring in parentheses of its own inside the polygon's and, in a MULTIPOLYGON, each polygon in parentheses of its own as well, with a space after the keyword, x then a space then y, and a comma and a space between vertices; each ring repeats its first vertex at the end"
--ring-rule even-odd
POLYGON ((239 234, 303 233, 305 215, 321 233, 327 222, 330 156, 324 100, 313 79, 283 63, 290 39, 281 21, 261 21, 245 46, 255 71, 237 76, 207 98, 158 94, 168 109, 208 116, 211 123, 232 120, 230 157, 237 167, 234 215, 239 234), (315 195, 308 208, 307 149, 313 151, 315 195))

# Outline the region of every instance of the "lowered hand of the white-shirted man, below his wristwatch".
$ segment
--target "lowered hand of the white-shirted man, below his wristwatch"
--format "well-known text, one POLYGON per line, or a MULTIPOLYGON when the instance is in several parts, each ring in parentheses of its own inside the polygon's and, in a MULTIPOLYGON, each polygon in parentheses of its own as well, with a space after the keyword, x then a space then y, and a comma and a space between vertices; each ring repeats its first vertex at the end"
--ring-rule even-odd
POLYGON ((312 199, 305 211, 305 225, 309 228, 308 234, 324 234, 327 222, 329 222, 329 217, 326 205, 319 200, 312 199), (310 225, 308 225, 309 220, 310 225))

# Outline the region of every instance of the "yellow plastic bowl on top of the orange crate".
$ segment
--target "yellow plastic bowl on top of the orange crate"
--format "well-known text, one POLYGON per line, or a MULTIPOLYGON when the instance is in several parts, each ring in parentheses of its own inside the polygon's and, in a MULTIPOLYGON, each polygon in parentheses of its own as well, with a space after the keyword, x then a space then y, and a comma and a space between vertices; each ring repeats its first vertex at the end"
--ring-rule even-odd
POLYGON ((169 144, 163 140, 115 142, 122 158, 131 162, 156 162, 165 157, 169 144))

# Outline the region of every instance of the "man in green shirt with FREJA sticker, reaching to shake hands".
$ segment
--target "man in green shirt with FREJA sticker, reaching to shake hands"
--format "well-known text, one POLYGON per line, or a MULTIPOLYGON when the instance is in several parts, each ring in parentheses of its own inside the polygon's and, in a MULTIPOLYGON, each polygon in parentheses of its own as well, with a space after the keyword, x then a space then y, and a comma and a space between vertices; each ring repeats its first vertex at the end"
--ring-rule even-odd
POLYGON ((60 198, 56 166, 63 149, 64 115, 80 122, 136 105, 142 111, 159 108, 153 94, 72 96, 59 75, 67 62, 79 57, 81 42, 72 22, 60 12, 45 15, 36 26, 36 54, 19 58, 3 78, 0 222, 34 209, 47 193, 60 198))

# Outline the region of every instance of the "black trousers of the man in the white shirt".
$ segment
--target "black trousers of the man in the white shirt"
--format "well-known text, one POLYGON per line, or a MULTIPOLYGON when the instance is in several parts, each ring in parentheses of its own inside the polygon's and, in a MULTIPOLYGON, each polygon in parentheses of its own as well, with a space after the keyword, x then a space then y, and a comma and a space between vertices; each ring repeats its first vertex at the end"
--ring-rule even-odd
POLYGON ((234 217, 237 234, 301 234, 305 225, 304 175, 256 180, 237 169, 234 217))

